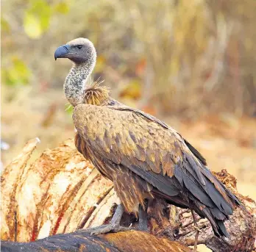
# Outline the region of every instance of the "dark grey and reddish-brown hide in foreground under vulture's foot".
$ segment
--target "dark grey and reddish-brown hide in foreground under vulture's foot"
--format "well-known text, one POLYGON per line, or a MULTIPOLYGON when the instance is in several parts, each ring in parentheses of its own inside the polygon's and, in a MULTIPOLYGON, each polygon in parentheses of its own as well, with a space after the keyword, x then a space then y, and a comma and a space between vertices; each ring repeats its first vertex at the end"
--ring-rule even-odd
POLYGON ((2 252, 191 252, 179 242, 154 237, 141 231, 91 236, 85 230, 57 234, 35 242, 1 242, 2 252))

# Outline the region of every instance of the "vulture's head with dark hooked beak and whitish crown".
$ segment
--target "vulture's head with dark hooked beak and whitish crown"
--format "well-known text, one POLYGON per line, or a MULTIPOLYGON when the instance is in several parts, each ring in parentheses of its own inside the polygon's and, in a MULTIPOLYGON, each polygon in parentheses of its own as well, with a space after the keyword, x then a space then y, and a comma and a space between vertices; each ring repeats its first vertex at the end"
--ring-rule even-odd
POLYGON ((68 58, 76 64, 95 62, 96 49, 87 38, 79 37, 57 48, 54 58, 68 58))

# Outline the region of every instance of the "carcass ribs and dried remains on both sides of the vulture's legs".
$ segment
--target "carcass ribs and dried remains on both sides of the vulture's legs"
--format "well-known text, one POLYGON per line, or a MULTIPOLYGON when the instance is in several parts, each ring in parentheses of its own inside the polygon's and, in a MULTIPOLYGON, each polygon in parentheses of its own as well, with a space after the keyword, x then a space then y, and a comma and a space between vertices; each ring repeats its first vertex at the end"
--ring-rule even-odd
MULTIPOLYGON (((1 176, 1 239, 32 242, 54 234, 71 233, 107 223, 117 198, 113 184, 104 179, 90 162, 67 140, 58 148, 46 150, 31 165, 26 165, 37 140, 5 168, 1 176)), ((247 211, 236 209, 225 222, 229 240, 213 235, 210 223, 197 216, 199 244, 213 251, 252 251, 256 234, 256 204, 236 191, 235 178, 222 170, 218 179, 235 193, 247 211)), ((124 215, 125 226, 137 226, 133 215, 124 215)), ((155 201, 149 208, 151 234, 193 245, 196 231, 191 212, 155 201)))

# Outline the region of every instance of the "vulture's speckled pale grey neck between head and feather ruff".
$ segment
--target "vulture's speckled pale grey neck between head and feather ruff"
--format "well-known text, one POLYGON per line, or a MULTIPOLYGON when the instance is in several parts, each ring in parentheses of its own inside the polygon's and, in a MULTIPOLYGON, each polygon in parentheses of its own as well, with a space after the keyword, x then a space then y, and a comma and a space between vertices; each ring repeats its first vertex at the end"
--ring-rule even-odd
POLYGON ((65 78, 65 98, 72 106, 76 107, 84 101, 86 83, 93 72, 95 63, 96 60, 92 59, 88 60, 88 62, 75 64, 65 78))

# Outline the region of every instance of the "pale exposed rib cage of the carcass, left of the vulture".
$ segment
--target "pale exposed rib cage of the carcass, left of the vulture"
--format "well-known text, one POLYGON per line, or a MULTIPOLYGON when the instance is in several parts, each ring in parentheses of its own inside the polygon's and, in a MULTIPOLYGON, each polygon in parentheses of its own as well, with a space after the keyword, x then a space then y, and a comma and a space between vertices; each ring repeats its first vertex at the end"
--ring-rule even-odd
MULTIPOLYGON (((97 210, 106 196, 110 207, 107 211, 104 206, 102 219, 108 217, 116 201, 113 185, 77 152, 74 140, 44 151, 26 167, 35 148, 31 145, 24 147, 1 177, 1 239, 27 242, 75 231, 86 225, 87 213, 97 210)), ((97 223, 90 219, 92 225, 93 221, 97 223)))

